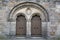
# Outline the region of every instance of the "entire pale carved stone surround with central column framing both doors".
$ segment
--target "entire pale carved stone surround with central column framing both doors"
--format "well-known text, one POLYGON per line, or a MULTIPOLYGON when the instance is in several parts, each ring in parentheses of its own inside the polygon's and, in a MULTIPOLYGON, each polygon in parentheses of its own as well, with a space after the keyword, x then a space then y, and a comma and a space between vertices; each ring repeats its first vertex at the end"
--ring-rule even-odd
MULTIPOLYGON (((48 13, 47 11, 44 9, 44 7, 42 7, 41 5, 39 4, 36 4, 36 3, 33 3, 33 2, 24 2, 24 3, 21 3, 21 4, 18 4, 17 6, 15 6, 12 11, 10 12, 9 14, 9 21, 11 24, 10 24, 10 34, 11 35, 15 35, 16 33, 16 18, 18 15, 20 14, 23 14, 25 15, 25 18, 26 20, 28 21, 27 23, 27 28, 29 26, 29 28, 27 29, 27 36, 31 36, 31 18, 34 14, 37 14, 41 17, 41 22, 48 22, 49 21, 49 18, 48 18, 48 13), (28 14, 28 15, 27 15, 28 14), (28 31, 29 30, 29 31, 28 31)), ((43 24, 45 25, 44 27, 44 35, 46 35, 46 23, 43 24)), ((43 28, 42 28, 43 29, 43 28)))

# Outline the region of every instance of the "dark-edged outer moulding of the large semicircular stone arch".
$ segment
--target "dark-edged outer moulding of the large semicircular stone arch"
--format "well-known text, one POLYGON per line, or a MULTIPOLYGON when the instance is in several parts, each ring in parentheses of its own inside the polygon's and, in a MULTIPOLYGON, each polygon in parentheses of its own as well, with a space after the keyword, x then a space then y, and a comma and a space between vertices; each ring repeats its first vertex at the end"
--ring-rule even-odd
POLYGON ((34 6, 34 7, 37 7, 38 9, 40 9, 42 12, 44 12, 44 15, 45 15, 45 21, 48 22, 49 21, 49 14, 47 12, 47 10, 40 4, 37 4, 37 3, 34 3, 34 2, 23 2, 23 3, 19 3, 18 5, 16 5, 15 7, 12 8, 12 10, 10 11, 9 13, 9 16, 8 16, 8 20, 11 19, 11 17, 14 15, 14 12, 19 9, 19 8, 24 8, 24 7, 27 7, 31 5, 34 6))

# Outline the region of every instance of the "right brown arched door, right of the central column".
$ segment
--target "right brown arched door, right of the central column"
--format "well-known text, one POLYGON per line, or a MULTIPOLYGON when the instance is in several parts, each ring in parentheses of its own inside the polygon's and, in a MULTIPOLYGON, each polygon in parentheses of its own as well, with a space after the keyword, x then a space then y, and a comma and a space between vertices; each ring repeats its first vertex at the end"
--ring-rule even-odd
POLYGON ((34 15, 31 19, 31 36, 32 37, 42 36, 41 18, 39 15, 34 15))

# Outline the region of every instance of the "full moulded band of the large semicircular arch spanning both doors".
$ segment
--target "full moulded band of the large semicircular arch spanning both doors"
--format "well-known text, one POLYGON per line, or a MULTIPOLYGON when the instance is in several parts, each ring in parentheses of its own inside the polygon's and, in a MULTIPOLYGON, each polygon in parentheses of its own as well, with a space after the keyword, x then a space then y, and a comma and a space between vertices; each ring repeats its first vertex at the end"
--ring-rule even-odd
POLYGON ((43 13, 43 16, 45 17, 44 21, 46 21, 46 22, 49 21, 49 15, 48 15, 48 12, 46 11, 46 9, 42 5, 39 5, 39 4, 34 3, 34 2, 23 2, 23 3, 16 5, 15 7, 13 7, 9 13, 8 20, 11 20, 11 21, 15 20, 14 19, 15 12, 20 10, 20 9, 23 9, 25 7, 33 7, 35 9, 40 10, 43 13))

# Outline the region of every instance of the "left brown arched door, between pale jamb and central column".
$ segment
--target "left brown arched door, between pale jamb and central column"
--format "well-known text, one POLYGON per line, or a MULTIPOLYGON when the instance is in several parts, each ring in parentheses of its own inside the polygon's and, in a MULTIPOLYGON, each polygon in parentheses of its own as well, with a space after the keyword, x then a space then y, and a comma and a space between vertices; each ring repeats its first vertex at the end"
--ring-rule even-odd
POLYGON ((26 36, 26 19, 23 15, 19 15, 16 18, 16 35, 26 36))

